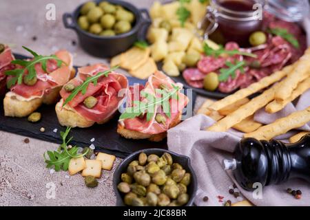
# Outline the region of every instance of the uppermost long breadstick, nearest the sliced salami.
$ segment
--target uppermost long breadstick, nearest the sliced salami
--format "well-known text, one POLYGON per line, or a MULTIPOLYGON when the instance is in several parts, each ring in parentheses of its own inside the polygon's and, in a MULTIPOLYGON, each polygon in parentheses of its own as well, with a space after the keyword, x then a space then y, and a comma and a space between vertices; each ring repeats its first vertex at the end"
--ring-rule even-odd
POLYGON ((289 74, 289 72, 291 72, 292 70, 293 70, 293 65, 289 65, 283 68, 282 70, 271 74, 270 76, 266 76, 265 78, 262 78, 257 83, 253 83, 249 85, 249 87, 245 89, 240 89, 236 91, 234 94, 231 94, 230 96, 227 96, 223 98, 222 100, 218 100, 217 102, 214 102, 214 104, 211 104, 209 108, 216 110, 216 111, 223 109, 224 107, 227 107, 227 105, 229 104, 233 104, 237 102, 238 100, 241 100, 242 98, 247 98, 247 96, 251 96, 252 94, 255 94, 256 92, 260 91, 260 89, 269 87, 269 85, 272 85, 273 83, 276 83, 278 80, 287 76, 287 74, 289 74))

